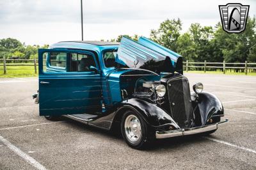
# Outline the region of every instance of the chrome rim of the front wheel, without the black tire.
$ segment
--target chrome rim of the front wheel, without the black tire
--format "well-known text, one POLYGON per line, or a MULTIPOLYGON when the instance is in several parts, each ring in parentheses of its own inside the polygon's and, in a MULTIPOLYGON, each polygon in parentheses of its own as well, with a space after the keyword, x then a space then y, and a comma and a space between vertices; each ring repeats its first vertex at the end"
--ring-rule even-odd
POLYGON ((129 115, 125 119, 124 123, 124 129, 125 129, 125 134, 129 141, 132 143, 140 140, 141 138, 141 124, 140 120, 134 116, 134 115, 129 115))

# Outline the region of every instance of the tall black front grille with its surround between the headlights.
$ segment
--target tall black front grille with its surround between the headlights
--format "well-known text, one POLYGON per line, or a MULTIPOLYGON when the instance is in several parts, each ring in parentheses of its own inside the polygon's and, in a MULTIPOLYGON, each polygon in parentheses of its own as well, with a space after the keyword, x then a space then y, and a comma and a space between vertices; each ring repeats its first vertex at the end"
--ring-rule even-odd
POLYGON ((188 78, 179 74, 166 81, 170 115, 180 128, 194 125, 194 113, 191 104, 188 78))

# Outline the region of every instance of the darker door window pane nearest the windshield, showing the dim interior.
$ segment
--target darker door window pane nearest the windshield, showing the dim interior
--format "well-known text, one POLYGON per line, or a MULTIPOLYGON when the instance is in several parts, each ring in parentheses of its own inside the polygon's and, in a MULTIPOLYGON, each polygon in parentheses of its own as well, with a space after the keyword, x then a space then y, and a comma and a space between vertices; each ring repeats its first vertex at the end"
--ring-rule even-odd
POLYGON ((70 71, 84 72, 92 71, 90 67, 96 67, 92 55, 84 53, 70 53, 70 71))

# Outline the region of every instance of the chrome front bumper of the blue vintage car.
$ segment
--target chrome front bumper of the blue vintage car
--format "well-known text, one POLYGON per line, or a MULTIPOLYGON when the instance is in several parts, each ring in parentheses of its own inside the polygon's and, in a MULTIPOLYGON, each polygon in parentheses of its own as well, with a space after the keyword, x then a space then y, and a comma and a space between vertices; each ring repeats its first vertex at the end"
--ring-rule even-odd
POLYGON ((188 129, 177 129, 173 131, 164 131, 164 132, 159 132, 156 131, 156 138, 157 139, 164 139, 164 138, 172 138, 175 136, 184 136, 184 135, 189 135, 189 134, 198 134, 202 132, 208 132, 212 131, 215 129, 218 129, 220 125, 223 125, 224 123, 227 123, 228 119, 218 122, 216 124, 211 124, 211 125, 204 125, 200 127, 192 127, 188 129))

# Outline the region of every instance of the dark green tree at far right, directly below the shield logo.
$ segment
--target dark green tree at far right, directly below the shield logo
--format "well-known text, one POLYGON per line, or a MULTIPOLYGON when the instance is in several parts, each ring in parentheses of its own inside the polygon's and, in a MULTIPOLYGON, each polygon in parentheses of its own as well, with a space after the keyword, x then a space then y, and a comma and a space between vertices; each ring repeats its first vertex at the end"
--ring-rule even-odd
POLYGON ((215 55, 227 62, 244 62, 245 60, 255 60, 254 46, 256 44, 256 19, 248 17, 246 29, 239 34, 230 34, 223 31, 220 24, 214 32, 215 55))

